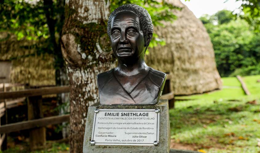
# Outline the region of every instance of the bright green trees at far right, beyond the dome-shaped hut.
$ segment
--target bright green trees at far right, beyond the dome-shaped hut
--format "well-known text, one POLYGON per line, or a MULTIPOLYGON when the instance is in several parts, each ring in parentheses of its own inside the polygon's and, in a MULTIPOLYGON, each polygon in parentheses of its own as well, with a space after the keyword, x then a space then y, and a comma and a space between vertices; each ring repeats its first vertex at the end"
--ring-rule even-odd
POLYGON ((260 74, 260 34, 227 10, 200 18, 213 43, 220 75, 260 74))

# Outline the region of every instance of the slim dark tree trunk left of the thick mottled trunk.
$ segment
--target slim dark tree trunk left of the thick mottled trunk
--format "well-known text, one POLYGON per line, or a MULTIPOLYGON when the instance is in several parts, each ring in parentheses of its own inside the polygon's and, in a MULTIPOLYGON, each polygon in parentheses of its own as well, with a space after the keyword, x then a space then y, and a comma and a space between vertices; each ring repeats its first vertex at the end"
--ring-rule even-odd
MULTIPOLYGON (((58 10, 62 10, 64 9, 64 5, 65 5, 65 0, 57 0, 56 2, 56 9, 58 10)), ((58 40, 58 42, 61 41, 61 35, 62 35, 62 30, 58 29, 55 30, 55 28, 59 28, 64 22, 64 12, 59 11, 59 13, 55 14, 54 13, 54 9, 55 9, 55 5, 53 0, 43 0, 43 10, 45 12, 45 16, 46 16, 46 21, 47 21, 47 25, 49 28, 49 33, 50 33, 50 46, 49 48, 51 48, 51 53, 54 55, 54 68, 55 68, 55 82, 56 82, 56 86, 61 86, 61 85, 68 85, 68 78, 67 78, 67 74, 66 74, 66 68, 65 68, 65 62, 62 58, 62 52, 61 52, 61 44, 57 43, 56 41, 58 40), (59 35, 55 34, 55 32, 59 32, 59 35)), ((58 101, 58 105, 63 105, 67 102, 66 99, 68 99, 69 94, 68 93, 61 93, 61 94, 57 94, 57 101, 58 101)), ((63 105, 64 106, 64 105, 63 105)), ((60 107, 59 109, 59 114, 65 114, 66 112, 68 112, 68 110, 66 109, 66 107, 60 107)), ((65 122, 62 123, 62 125, 66 125, 65 122)), ((62 128, 62 137, 66 138, 68 137, 68 127, 63 127, 62 128)))

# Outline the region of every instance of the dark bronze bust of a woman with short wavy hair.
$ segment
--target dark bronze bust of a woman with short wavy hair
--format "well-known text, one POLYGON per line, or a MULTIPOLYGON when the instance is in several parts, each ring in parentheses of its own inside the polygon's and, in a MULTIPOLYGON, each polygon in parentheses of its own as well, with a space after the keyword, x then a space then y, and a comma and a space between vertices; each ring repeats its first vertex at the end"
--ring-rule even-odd
POLYGON ((97 76, 101 105, 153 105, 162 94, 166 74, 144 61, 153 37, 153 24, 146 9, 126 4, 109 16, 107 34, 116 68, 97 76))

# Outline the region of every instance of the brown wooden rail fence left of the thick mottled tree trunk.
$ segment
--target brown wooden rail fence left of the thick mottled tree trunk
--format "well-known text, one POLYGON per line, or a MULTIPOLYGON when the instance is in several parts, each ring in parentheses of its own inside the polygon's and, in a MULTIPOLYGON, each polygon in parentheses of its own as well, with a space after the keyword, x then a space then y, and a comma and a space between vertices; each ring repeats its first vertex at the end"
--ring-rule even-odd
POLYGON ((21 91, 6 91, 6 87, 3 86, 3 88, 4 92, 0 92, 0 100, 4 101, 3 103, 0 103, 0 116, 6 114, 6 123, 8 123, 8 108, 16 106, 19 102, 24 101, 25 98, 27 98, 28 108, 28 121, 0 126, 0 134, 2 134, 0 138, 0 146, 2 145, 3 150, 6 149, 7 144, 6 133, 30 129, 30 148, 34 150, 41 146, 45 146, 46 144, 46 129, 44 126, 69 121, 69 114, 43 118, 42 112, 42 95, 66 93, 70 91, 69 86, 24 89, 21 91))

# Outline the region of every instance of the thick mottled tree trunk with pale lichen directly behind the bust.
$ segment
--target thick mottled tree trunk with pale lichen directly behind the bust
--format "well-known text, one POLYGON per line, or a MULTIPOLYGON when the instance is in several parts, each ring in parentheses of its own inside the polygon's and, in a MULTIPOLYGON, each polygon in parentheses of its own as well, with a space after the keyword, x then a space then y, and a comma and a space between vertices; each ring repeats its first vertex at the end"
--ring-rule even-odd
POLYGON ((109 7, 105 0, 66 0, 61 44, 71 87, 70 152, 82 152, 87 109, 99 100, 96 75, 114 67, 109 7))

